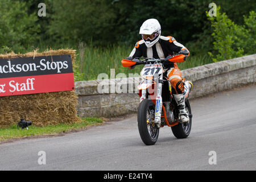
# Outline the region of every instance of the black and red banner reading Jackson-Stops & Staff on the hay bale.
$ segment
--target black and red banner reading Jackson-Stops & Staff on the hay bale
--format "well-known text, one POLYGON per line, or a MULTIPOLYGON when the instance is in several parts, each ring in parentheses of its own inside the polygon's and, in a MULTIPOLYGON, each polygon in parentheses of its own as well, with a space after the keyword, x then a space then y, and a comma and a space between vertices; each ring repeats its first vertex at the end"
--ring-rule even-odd
POLYGON ((0 60, 0 97, 74 90, 70 55, 0 60))

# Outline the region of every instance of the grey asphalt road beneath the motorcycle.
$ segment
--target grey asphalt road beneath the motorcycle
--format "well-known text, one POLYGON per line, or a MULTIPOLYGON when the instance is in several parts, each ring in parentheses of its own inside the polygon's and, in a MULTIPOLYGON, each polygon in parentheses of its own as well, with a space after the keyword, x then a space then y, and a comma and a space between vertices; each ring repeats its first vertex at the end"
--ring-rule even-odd
POLYGON ((61 137, 0 144, 0 170, 255 170, 256 85, 191 100, 192 130, 145 146, 137 115, 61 137), (46 164, 39 165, 39 151, 46 164), (216 164, 209 164, 209 152, 216 164))

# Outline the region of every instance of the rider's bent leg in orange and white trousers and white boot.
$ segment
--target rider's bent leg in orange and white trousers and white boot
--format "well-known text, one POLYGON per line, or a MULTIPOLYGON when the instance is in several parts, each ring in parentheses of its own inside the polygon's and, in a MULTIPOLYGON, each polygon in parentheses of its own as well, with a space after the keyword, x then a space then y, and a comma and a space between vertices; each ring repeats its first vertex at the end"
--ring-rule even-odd
POLYGON ((185 98, 184 98, 184 81, 185 79, 181 77, 181 72, 179 68, 172 68, 167 72, 168 79, 171 82, 174 92, 174 100, 177 103, 179 109, 179 116, 182 122, 188 122, 188 112, 185 110, 185 98))

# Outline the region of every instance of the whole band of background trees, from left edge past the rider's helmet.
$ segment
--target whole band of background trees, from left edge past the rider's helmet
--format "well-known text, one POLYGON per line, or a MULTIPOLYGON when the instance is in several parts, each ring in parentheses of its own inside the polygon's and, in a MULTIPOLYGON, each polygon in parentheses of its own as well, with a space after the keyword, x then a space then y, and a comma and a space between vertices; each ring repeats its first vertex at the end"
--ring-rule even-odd
MULTIPOLYGON (((191 53, 212 51, 212 29, 205 16, 210 0, 44 0, 46 17, 38 17, 40 0, 0 2, 0 47, 24 52, 40 44, 92 42, 94 46, 134 45, 142 22, 156 18, 162 35, 189 45, 191 53)), ((216 0, 237 24, 256 9, 254 0, 216 0)))

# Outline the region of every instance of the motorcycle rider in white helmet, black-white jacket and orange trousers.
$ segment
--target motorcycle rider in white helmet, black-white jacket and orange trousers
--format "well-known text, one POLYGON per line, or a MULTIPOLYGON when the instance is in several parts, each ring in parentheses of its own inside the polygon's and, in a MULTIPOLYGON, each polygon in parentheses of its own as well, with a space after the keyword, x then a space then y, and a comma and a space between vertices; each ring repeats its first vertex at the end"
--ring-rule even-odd
MULTIPOLYGON (((133 60, 135 57, 148 57, 154 59, 165 59, 168 55, 182 54, 189 56, 189 51, 182 44, 178 43, 172 36, 161 36, 161 26, 156 19, 147 19, 141 26, 139 34, 142 40, 135 44, 133 51, 126 59, 133 60)), ((164 67, 168 69, 168 80, 172 85, 172 95, 179 109, 181 122, 188 122, 188 112, 185 110, 184 99, 184 81, 181 77, 180 69, 176 63, 168 61, 164 63, 164 67)), ((130 69, 133 69, 130 67, 130 69)))

